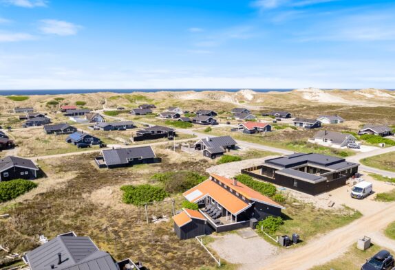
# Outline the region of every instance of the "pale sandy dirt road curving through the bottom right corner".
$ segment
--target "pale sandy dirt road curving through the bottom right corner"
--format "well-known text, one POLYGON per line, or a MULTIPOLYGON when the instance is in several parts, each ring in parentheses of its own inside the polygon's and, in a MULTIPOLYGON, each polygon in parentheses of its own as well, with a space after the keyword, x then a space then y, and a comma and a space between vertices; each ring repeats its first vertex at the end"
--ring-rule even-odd
MULTIPOLYGON (((394 221, 395 203, 385 205, 383 210, 370 216, 363 216, 345 227, 312 240, 308 245, 284 251, 271 260, 261 261, 260 269, 265 270, 306 270, 337 258, 363 236, 380 232, 394 221)), ((374 239, 373 239, 374 243, 374 239)), ((241 267, 240 269, 246 269, 241 267)))

